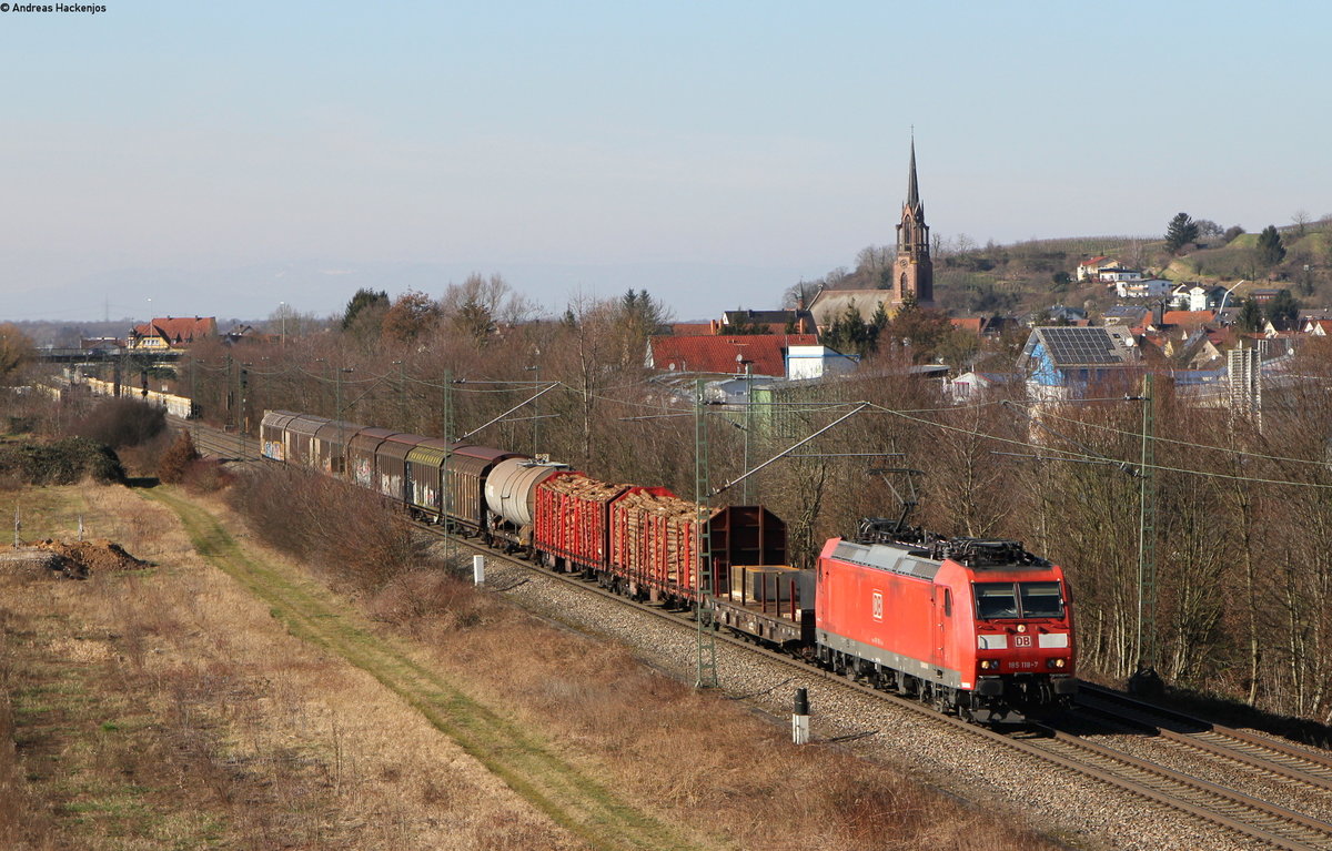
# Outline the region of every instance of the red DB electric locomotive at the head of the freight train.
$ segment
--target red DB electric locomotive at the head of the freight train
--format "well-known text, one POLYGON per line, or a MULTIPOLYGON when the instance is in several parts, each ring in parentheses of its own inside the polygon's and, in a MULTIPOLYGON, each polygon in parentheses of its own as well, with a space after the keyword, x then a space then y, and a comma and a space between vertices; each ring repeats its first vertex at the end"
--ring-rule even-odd
POLYGON ((819 555, 815 633, 826 667, 964 718, 1066 706, 1078 689, 1063 570, 1016 541, 866 521, 819 555))

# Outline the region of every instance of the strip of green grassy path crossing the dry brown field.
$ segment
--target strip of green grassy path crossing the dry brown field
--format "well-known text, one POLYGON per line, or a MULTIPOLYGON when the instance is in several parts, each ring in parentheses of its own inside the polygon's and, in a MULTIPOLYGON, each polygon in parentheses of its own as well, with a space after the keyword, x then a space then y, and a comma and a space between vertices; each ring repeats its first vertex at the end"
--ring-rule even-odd
POLYGON ((360 618, 322 589, 250 558, 205 509, 164 487, 147 495, 170 507, 200 555, 262 599, 293 635, 374 677, 518 795, 589 846, 607 851, 697 847, 360 626, 360 618))

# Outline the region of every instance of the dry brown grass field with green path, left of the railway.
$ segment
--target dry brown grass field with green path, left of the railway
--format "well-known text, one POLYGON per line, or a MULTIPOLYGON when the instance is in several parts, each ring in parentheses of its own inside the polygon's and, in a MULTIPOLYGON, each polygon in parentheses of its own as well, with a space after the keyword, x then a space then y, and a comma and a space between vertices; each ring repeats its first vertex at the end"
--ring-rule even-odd
POLYGON ((21 501, 153 566, 0 575, 3 848, 1056 847, 440 574, 348 599, 217 502, 21 501))

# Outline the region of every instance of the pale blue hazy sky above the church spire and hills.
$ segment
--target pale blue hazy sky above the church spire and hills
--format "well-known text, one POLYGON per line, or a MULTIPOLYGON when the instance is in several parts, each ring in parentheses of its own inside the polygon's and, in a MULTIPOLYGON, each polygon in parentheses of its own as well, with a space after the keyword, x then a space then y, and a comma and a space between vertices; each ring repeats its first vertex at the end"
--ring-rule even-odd
POLYGON ((894 241, 912 133, 946 240, 1332 212, 1312 0, 25 5, 0 321, 328 314, 470 272, 550 312, 775 308, 894 241))

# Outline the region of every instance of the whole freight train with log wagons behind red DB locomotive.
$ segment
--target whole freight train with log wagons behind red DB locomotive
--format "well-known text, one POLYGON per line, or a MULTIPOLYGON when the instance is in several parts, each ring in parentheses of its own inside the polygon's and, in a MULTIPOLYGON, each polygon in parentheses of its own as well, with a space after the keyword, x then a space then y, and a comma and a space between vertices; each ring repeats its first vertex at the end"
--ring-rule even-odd
POLYGON ((786 525, 762 506, 701 511, 665 487, 523 453, 282 410, 265 413, 260 437, 264 458, 629 597, 701 606, 719 629, 940 711, 998 720, 1076 693, 1063 570, 1015 541, 867 519, 802 570, 789 565, 786 525))

